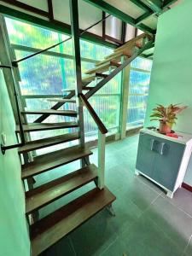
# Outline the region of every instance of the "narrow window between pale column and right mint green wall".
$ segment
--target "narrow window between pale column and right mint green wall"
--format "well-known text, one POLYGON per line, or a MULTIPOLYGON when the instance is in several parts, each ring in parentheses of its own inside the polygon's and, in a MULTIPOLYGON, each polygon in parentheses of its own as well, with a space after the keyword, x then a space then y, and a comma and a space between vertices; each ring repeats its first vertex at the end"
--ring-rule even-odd
POLYGON ((131 62, 127 129, 143 125, 152 61, 138 57, 131 62))

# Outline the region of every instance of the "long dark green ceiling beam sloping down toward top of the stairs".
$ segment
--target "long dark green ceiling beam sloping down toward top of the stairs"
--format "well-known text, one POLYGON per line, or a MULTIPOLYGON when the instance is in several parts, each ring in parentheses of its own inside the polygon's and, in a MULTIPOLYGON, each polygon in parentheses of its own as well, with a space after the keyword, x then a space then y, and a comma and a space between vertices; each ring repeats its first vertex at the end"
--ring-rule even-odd
POLYGON ((149 26, 145 26, 143 24, 136 25, 136 20, 133 19, 130 15, 126 15, 124 12, 120 11, 119 9, 116 9, 109 3, 104 2, 103 0, 97 1, 97 0, 84 0, 86 3, 90 3, 94 5, 95 7, 102 9, 102 11, 113 15, 114 17, 118 18, 119 20, 125 21, 125 23, 129 23, 132 26, 136 26, 137 28, 143 30, 144 32, 149 32, 154 34, 154 30, 150 28, 149 26))

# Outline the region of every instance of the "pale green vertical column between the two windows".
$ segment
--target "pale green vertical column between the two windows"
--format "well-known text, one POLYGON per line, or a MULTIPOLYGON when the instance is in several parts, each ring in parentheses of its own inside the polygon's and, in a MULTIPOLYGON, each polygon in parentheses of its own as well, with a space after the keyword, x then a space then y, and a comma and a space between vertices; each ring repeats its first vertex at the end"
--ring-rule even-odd
MULTIPOLYGON (((124 58, 124 57, 123 57, 124 58)), ((122 60, 122 62, 125 60, 122 60)), ((121 77, 121 108, 120 108, 120 139, 126 137, 126 123, 128 113, 128 96, 130 84, 130 68, 131 64, 125 67, 122 71, 121 77)))

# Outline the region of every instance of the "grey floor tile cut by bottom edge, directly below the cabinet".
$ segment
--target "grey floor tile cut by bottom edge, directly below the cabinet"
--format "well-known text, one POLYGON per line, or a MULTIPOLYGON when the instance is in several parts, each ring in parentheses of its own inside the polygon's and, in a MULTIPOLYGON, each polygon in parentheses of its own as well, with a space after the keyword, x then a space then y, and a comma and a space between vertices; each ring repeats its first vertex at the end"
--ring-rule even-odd
POLYGON ((141 216, 120 238, 125 243, 125 252, 131 256, 181 256, 183 252, 146 215, 141 216))

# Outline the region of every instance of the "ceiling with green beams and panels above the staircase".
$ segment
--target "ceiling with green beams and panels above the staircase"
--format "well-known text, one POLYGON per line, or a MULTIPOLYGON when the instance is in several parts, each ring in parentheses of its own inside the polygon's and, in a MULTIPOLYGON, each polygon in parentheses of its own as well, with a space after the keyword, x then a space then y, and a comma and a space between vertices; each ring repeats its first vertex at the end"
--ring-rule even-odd
MULTIPOLYGON (((79 27, 111 16, 84 34, 98 44, 117 47, 141 31, 155 33, 158 16, 182 0, 79 0, 79 27), (103 28, 104 26, 104 28, 103 28)), ((70 34, 69 0, 3 0, 0 13, 70 34)))

